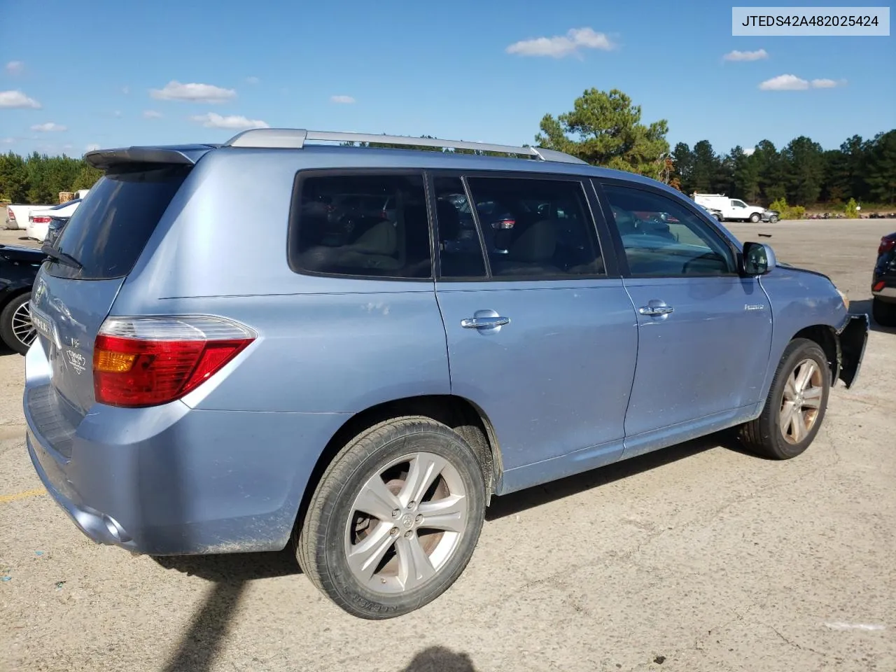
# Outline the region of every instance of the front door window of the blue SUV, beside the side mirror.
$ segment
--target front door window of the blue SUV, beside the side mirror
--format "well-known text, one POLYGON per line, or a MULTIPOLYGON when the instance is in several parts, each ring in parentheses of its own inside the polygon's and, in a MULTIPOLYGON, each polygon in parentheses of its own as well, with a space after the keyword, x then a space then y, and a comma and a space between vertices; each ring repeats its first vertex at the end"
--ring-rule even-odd
POLYGON ((675 200, 604 185, 633 275, 720 275, 734 271, 731 250, 696 213, 675 200))

